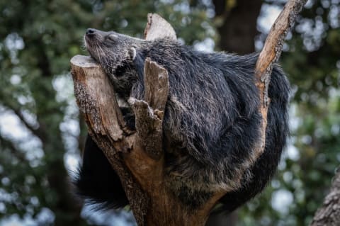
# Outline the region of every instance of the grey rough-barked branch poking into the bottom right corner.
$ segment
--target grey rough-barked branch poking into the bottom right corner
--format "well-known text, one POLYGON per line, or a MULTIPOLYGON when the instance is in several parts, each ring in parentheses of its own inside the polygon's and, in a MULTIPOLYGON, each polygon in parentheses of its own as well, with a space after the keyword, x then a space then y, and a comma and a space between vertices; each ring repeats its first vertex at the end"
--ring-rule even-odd
POLYGON ((310 226, 340 225, 340 171, 335 175, 331 191, 324 198, 322 207, 317 210, 310 226))

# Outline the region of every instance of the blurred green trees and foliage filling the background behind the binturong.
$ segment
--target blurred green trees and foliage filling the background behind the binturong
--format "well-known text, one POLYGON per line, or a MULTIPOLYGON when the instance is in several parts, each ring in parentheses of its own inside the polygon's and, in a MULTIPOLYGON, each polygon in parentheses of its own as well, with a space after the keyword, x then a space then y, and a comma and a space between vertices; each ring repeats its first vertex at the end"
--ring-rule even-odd
MULTIPOLYGON (((68 74, 69 59, 84 54, 86 28, 142 37, 147 13, 156 11, 186 44, 220 40, 217 50, 246 53, 261 48, 267 9, 284 3, 0 1, 0 218, 88 223, 70 199, 64 166, 78 156, 86 130, 68 74)), ((307 225, 329 190, 340 162, 339 7, 339 0, 309 1, 288 35, 280 63, 293 84, 290 145, 276 178, 238 210, 238 225, 307 225)))

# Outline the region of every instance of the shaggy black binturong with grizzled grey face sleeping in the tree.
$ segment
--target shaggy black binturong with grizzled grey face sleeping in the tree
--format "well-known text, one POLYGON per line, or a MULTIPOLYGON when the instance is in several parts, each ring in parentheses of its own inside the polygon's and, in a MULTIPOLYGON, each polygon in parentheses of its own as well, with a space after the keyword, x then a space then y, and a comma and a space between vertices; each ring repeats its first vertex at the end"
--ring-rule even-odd
MULTIPOLYGON (((200 208, 222 189, 226 194, 217 210, 229 213, 263 190, 276 171, 288 135, 290 88, 280 67, 273 67, 268 86, 266 145, 254 160, 261 129, 254 78, 258 54, 199 52, 176 40, 141 40, 92 28, 86 31, 84 42, 124 103, 121 109, 132 131, 135 118, 129 98, 144 96, 145 59, 168 71, 164 177, 169 191, 183 205, 200 208)), ((79 195, 98 208, 128 205, 118 175, 89 136, 83 158, 74 180, 79 195)))

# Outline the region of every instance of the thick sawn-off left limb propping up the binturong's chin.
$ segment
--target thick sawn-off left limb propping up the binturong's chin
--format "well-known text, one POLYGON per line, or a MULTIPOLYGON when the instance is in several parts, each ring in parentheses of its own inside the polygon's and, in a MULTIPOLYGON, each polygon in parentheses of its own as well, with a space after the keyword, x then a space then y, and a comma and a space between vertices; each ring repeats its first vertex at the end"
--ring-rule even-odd
POLYGON ((115 99, 111 82, 100 65, 90 57, 79 55, 73 57, 71 63, 74 94, 79 110, 89 126, 89 133, 120 176, 137 223, 144 225, 149 200, 123 163, 121 154, 118 154, 132 149, 135 135, 124 137, 123 115, 115 99), (101 87, 99 92, 98 87, 101 87))

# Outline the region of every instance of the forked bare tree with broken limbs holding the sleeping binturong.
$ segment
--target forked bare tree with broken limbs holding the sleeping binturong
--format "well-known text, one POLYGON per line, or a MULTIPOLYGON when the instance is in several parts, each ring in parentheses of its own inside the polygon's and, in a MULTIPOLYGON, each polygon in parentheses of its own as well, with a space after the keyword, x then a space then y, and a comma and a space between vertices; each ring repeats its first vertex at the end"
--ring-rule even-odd
MULTIPOLYGON (((289 1, 288 4, 291 4, 291 2, 296 4, 296 1, 289 1)), ((286 13, 288 11, 290 15, 295 15, 297 11, 293 13, 289 11, 296 10, 295 8, 286 8, 286 13)), ((279 25, 278 27, 289 23, 289 25, 286 25, 288 29, 294 18, 292 17, 289 20, 281 18, 283 21, 276 23, 279 25)), ((145 30, 147 40, 157 37, 176 39, 173 29, 163 18, 149 14, 148 20, 145 30)), ((281 30, 274 29, 272 32, 279 33, 281 30)), ((269 37, 283 39, 284 34, 280 33, 269 37)), ((282 43, 282 40, 276 43, 282 43)), ((266 43, 266 45, 269 44, 266 43)), ((267 48, 265 46, 267 53, 271 47, 278 56, 280 45, 270 45, 267 48)), ((273 58, 271 55, 266 55, 266 52, 261 54, 259 62, 267 62, 269 69, 263 63, 259 64, 261 67, 256 67, 256 72, 263 72, 264 74, 257 74, 261 84, 264 80, 260 80, 260 78, 269 76, 271 62, 277 59, 277 57, 273 58)), ((164 183, 162 120, 169 94, 169 79, 166 69, 149 59, 145 61, 144 99, 130 98, 129 100, 136 118, 136 132, 132 133, 125 127, 123 115, 115 99, 115 92, 103 69, 91 58, 84 56, 73 57, 71 63, 74 94, 79 109, 86 119, 91 137, 101 147, 113 169, 120 176, 120 181, 123 183, 137 224, 148 226, 205 225, 210 210, 226 191, 216 191, 210 200, 200 208, 188 210, 180 200, 169 192, 164 183)), ((265 87, 263 84, 263 88, 265 87)), ((261 98, 264 97, 262 91, 261 98)), ((268 104, 263 106, 268 107, 268 104)), ((266 118, 264 117, 264 119, 266 118)), ((264 126, 265 129, 266 126, 264 126)), ((261 154, 261 152, 259 153, 261 154)), ((256 157, 259 157, 259 154, 256 154, 254 158, 256 157)), ((249 164, 251 164, 251 161, 249 164)))

